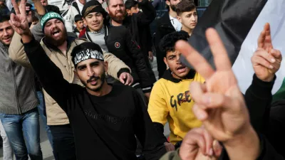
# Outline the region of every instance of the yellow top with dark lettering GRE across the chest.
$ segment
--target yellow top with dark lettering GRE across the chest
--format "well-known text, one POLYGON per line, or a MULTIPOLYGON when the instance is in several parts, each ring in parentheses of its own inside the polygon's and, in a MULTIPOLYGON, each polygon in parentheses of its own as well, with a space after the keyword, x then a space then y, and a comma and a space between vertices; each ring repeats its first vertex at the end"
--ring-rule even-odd
POLYGON ((180 142, 190 129, 200 127, 200 122, 192 112, 194 102, 190 96, 189 87, 193 81, 204 82, 198 73, 190 79, 177 80, 171 73, 165 79, 161 78, 152 88, 148 113, 152 122, 170 126, 170 142, 180 142))

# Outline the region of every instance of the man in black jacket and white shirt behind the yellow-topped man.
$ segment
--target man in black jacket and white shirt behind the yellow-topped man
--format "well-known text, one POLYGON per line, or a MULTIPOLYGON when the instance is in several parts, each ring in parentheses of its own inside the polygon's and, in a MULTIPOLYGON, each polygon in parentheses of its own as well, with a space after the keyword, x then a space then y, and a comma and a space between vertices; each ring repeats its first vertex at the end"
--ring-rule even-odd
POLYGON ((157 56, 157 71, 160 78, 165 73, 166 65, 163 62, 163 55, 165 53, 160 50, 160 40, 167 34, 174 31, 180 31, 182 24, 177 20, 176 6, 180 0, 166 0, 168 14, 157 19, 157 29, 155 33, 155 49, 157 56))

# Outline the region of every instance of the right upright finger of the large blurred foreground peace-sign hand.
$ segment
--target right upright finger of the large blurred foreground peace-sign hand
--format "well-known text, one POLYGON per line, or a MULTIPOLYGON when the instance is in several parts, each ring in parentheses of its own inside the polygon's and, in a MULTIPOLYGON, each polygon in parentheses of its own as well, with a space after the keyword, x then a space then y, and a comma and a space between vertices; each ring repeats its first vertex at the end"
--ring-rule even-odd
POLYGON ((214 56, 214 64, 217 70, 232 70, 232 63, 229 61, 227 50, 224 48, 222 39, 214 28, 209 28, 206 31, 206 38, 209 43, 209 48, 214 56))

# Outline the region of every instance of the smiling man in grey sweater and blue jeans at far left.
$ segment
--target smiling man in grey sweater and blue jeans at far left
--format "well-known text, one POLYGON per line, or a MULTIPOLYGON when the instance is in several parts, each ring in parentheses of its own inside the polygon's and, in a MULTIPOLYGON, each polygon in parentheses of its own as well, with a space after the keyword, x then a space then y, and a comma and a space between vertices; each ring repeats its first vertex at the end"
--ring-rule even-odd
POLYGON ((12 146, 16 159, 28 159, 29 155, 31 160, 42 160, 34 73, 9 58, 14 35, 9 19, 0 15, 0 119, 4 159, 13 159, 12 146))

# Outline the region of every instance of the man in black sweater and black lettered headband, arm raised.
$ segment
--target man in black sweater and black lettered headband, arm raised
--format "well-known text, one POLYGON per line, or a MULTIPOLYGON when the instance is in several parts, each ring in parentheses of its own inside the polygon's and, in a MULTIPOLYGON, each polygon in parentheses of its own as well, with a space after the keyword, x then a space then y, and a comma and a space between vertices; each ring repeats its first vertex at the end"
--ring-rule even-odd
POLYGON ((23 13, 24 7, 16 18, 11 17, 11 23, 21 35, 43 88, 68 114, 77 159, 136 160, 135 135, 144 146, 146 158, 159 159, 165 153, 163 142, 157 140, 140 95, 132 87, 106 82, 108 63, 100 46, 86 42, 73 48, 74 71, 85 87, 71 84, 34 40, 23 13))

